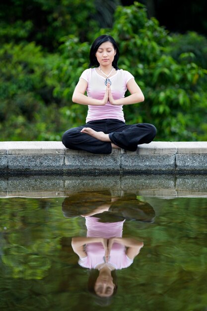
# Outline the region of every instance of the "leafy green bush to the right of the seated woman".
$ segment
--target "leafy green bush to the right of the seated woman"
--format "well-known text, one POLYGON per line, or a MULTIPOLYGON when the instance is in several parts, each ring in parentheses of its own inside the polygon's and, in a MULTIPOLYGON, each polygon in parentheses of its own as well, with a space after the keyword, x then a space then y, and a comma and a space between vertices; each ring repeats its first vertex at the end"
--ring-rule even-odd
POLYGON ((120 67, 132 68, 145 95, 144 103, 125 107, 127 121, 154 124, 157 140, 206 140, 207 71, 194 63, 188 46, 178 59, 169 55, 174 38, 138 3, 117 9, 111 33, 121 42, 120 67))

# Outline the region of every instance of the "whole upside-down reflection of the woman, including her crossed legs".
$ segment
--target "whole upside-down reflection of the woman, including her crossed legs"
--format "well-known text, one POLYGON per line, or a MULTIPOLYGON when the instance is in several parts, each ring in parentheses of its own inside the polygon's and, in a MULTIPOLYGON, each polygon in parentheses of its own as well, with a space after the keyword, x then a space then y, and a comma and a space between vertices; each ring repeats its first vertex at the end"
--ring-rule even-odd
POLYGON ((137 238, 122 237, 126 219, 153 222, 155 213, 146 202, 128 194, 122 198, 110 193, 82 193, 66 198, 65 217, 85 217, 87 236, 73 237, 72 248, 80 266, 90 269, 88 289, 102 298, 117 291, 116 270, 129 267, 143 247, 137 238))

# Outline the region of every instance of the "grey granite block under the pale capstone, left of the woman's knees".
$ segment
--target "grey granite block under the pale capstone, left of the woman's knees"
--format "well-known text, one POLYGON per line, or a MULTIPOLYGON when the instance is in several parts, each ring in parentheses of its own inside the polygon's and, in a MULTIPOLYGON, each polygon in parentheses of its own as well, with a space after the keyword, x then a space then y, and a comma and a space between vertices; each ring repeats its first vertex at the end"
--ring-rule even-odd
POLYGON ((64 155, 8 155, 10 172, 61 172, 64 165, 64 155))

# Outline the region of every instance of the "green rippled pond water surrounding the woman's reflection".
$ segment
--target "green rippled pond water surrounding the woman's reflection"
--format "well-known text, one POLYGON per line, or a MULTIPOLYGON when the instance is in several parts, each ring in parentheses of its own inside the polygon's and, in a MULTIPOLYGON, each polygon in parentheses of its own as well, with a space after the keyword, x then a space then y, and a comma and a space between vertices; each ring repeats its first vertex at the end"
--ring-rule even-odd
POLYGON ((102 221, 124 217, 123 237, 144 246, 116 271, 118 290, 106 303, 88 292, 89 270, 71 247, 86 236, 80 215, 97 208, 95 197, 0 199, 0 310, 206 311, 207 199, 137 197, 148 202, 137 213, 129 198, 115 198, 121 203, 102 221))

